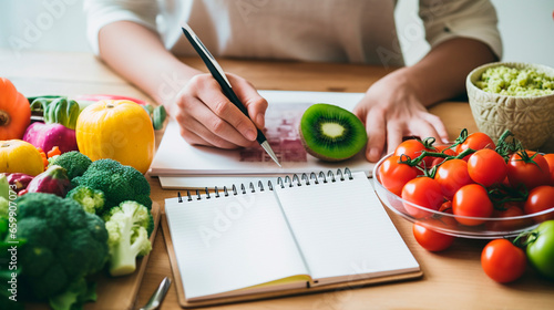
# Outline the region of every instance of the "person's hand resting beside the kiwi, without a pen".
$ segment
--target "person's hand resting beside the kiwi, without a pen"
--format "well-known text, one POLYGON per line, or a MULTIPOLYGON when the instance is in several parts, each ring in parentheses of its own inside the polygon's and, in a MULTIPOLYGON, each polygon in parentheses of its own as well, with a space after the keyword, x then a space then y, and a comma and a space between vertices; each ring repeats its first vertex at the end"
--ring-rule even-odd
POLYGON ((378 162, 384 149, 392 153, 404 136, 432 136, 444 143, 449 138, 442 121, 427 111, 401 70, 372 84, 353 113, 366 125, 369 162, 378 162))

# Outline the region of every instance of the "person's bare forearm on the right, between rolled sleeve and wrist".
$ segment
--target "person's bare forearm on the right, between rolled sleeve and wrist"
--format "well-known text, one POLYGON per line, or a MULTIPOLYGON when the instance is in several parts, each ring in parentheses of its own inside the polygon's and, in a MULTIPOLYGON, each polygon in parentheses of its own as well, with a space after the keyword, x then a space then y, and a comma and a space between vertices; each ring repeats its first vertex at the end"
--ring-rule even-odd
POLYGON ((485 43, 456 38, 439 44, 417 64, 392 74, 410 83, 420 102, 429 106, 463 94, 470 71, 496 60, 485 43))

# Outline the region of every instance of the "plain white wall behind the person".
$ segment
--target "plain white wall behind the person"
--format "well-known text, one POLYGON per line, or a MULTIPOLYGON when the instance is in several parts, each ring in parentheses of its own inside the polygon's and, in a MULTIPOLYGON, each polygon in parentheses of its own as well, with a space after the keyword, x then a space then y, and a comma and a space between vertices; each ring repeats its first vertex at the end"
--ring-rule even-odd
MULTIPOLYGON (((500 19, 503 60, 554 66, 554 1, 492 2, 500 19)), ((429 50, 417 8, 417 0, 399 0, 396 12, 407 64, 417 62, 429 50)), ((82 0, 0 0, 0 48, 16 55, 33 50, 90 51, 82 0)))

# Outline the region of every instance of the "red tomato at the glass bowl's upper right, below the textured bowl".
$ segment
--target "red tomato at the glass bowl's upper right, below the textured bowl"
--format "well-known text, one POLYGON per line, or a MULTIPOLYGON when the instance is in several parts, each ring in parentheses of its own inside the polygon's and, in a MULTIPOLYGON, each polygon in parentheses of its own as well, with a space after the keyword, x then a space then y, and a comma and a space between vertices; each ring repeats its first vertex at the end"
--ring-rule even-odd
POLYGON ((533 151, 521 151, 510 156, 507 179, 512 187, 517 188, 524 185, 525 188, 531 190, 540 185, 548 184, 550 177, 548 163, 543 155, 533 151), (533 157, 532 162, 526 162, 526 157, 533 157))

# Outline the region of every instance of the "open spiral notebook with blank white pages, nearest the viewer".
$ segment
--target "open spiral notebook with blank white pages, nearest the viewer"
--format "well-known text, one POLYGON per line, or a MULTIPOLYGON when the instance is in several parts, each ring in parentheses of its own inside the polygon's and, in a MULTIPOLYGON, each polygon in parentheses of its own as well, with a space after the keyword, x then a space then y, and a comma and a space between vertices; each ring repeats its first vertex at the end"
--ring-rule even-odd
POLYGON ((217 196, 165 203, 187 302, 421 276, 361 172, 295 175, 217 196))

